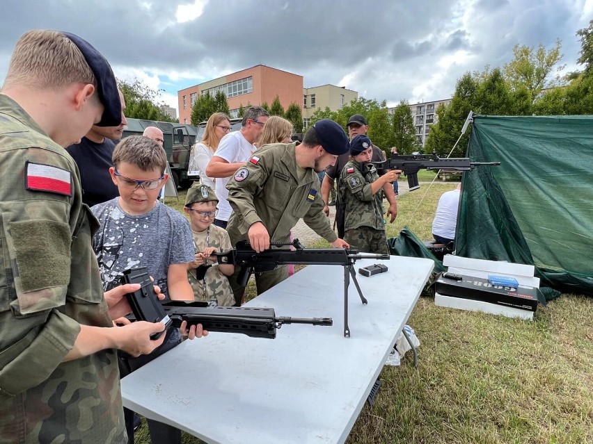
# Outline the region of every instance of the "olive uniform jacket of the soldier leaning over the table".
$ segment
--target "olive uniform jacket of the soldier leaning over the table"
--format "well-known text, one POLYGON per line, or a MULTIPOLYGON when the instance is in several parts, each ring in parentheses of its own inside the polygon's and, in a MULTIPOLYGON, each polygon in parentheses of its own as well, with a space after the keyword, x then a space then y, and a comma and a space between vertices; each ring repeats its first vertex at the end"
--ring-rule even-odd
POLYGON ((247 238, 255 222, 264 224, 272 242, 288 242, 301 218, 328 242, 338 238, 323 212, 317 173, 307 168, 299 180, 295 146, 275 143, 258 149, 228 182, 233 213, 227 230, 233 245, 247 238))

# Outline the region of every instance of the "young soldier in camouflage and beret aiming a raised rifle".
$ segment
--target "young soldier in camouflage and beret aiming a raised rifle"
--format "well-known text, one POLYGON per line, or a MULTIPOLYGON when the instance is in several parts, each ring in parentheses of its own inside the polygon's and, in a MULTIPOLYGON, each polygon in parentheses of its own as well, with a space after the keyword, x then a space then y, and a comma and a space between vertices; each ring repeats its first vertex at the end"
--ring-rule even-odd
POLYGON ((371 158, 370 139, 357 135, 350 142, 350 160, 338 181, 338 199, 345 209, 344 239, 360 252, 389 254, 379 191, 390 188, 400 170, 379 176, 371 158))

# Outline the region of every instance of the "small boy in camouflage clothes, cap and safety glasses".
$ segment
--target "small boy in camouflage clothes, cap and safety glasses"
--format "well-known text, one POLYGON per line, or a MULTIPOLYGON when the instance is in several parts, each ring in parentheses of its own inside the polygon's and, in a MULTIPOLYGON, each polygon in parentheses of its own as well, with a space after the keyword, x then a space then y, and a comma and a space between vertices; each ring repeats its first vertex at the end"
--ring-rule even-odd
POLYGON ((183 210, 189 215, 193 244, 196 247, 196 260, 188 264, 187 277, 196 301, 211 302, 215 306, 232 306, 235 304, 235 297, 232 295, 228 276, 232 276, 235 265, 217 264, 216 256, 212 256, 213 252, 228 252, 232 249, 226 230, 212 224, 218 202, 216 193, 209 186, 192 186, 187 190, 183 210), (202 265, 214 266, 206 270, 203 279, 198 279, 197 268, 202 265))

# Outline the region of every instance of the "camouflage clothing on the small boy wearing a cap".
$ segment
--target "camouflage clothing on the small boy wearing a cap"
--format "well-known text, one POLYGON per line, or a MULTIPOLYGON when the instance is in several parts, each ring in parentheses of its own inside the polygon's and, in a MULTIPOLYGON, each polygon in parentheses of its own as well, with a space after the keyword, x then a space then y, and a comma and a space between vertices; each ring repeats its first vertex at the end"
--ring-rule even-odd
MULTIPOLYGON (((230 238, 225 229, 210 225, 201 233, 192 231, 193 243, 196 245, 196 252, 203 252, 206 247, 215 247, 219 252, 228 252, 232 249, 230 238)), ((196 279, 196 269, 188 270, 187 277, 193 288, 193 298, 196 301, 216 300, 219 306, 232 306, 235 304, 235 297, 228 277, 221 273, 218 267, 210 267, 202 280, 196 279)))

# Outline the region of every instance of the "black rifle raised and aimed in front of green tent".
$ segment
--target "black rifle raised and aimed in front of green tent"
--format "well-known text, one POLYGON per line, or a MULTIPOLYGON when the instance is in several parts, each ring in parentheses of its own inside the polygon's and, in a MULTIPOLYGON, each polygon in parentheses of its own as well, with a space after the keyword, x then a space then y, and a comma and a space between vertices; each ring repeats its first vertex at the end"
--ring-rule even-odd
POLYGON ((386 161, 372 163, 377 170, 402 170, 408 176, 410 191, 420 188, 418 183, 418 171, 420 170, 468 171, 473 167, 500 165, 500 162, 471 162, 468 157, 440 158, 435 153, 411 156, 392 154, 391 158, 386 161))

